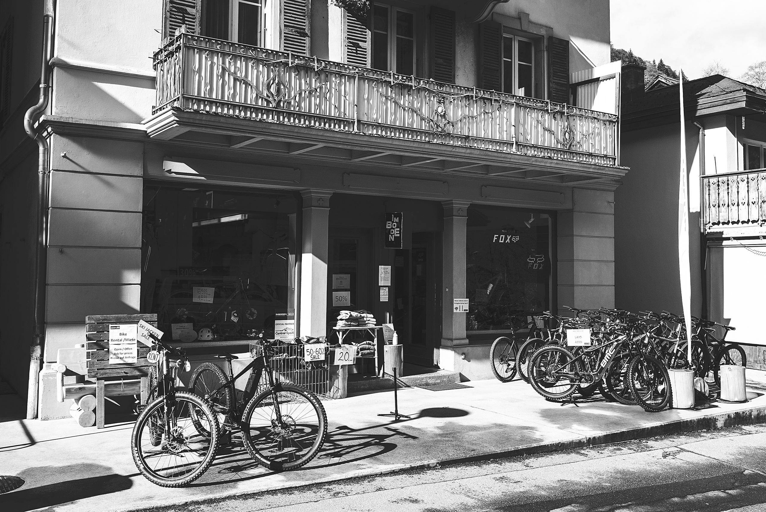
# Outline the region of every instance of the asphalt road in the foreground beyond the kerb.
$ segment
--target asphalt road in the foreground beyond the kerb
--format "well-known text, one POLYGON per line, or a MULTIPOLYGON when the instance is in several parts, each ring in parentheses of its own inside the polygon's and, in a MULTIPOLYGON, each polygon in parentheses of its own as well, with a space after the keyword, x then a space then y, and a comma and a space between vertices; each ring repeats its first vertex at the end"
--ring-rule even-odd
POLYGON ((766 510, 766 425, 453 464, 162 512, 766 510))

